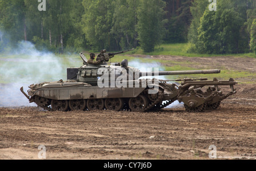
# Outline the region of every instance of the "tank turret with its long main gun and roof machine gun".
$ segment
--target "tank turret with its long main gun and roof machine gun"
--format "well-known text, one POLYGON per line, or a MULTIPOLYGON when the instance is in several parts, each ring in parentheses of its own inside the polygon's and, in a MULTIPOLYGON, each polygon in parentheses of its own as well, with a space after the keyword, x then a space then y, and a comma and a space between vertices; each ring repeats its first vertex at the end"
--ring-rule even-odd
MULTIPOLYGON (((211 69, 211 70, 179 70, 179 71, 158 71, 158 72, 141 72, 137 68, 132 68, 128 66, 128 61, 125 59, 121 63, 114 63, 107 65, 106 62, 109 61, 115 55, 125 53, 128 51, 133 51, 129 49, 126 51, 115 52, 115 53, 106 53, 106 50, 102 50, 98 55, 97 59, 103 59, 102 64, 94 65, 87 64, 87 59, 83 53, 80 53, 81 59, 84 61, 85 65, 82 65, 80 68, 69 68, 68 69, 68 80, 76 80, 78 82, 86 82, 88 84, 97 85, 98 80, 102 77, 103 74, 109 74, 109 80, 113 80, 110 77, 114 75, 116 80, 121 76, 123 71, 127 74, 127 80, 129 79, 129 74, 134 74, 133 80, 138 79, 143 76, 168 76, 168 75, 181 75, 181 74, 212 74, 220 73, 220 69, 211 69)), ((131 80, 130 80, 131 81, 131 80)))

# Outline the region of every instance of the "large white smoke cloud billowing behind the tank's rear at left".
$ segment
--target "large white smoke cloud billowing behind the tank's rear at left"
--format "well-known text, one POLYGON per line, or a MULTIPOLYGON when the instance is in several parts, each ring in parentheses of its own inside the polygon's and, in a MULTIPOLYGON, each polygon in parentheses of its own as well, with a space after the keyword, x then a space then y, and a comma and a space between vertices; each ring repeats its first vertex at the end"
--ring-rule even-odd
POLYGON ((0 107, 35 106, 20 92, 40 82, 67 79, 67 68, 60 57, 36 50, 34 44, 22 41, 11 53, 0 54, 0 107))

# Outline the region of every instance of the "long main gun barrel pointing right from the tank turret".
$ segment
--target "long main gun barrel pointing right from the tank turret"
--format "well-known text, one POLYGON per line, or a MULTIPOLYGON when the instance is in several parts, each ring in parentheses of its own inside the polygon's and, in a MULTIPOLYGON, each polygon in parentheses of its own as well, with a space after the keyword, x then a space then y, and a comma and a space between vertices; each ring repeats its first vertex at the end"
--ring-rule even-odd
POLYGON ((139 72, 139 77, 144 77, 144 76, 185 75, 185 74, 216 74, 216 73, 220 73, 220 69, 208 69, 208 70, 174 70, 174 71, 159 71, 159 72, 139 72))

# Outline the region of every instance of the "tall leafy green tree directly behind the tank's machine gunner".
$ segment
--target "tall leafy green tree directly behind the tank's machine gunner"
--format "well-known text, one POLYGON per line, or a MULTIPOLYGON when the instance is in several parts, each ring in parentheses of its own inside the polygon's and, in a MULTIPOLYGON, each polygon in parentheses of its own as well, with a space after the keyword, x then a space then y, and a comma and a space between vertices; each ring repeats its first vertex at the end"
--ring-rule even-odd
POLYGON ((85 14, 82 16, 84 33, 89 45, 96 51, 99 49, 112 50, 114 43, 111 35, 113 21, 113 3, 109 0, 84 0, 82 5, 85 14))

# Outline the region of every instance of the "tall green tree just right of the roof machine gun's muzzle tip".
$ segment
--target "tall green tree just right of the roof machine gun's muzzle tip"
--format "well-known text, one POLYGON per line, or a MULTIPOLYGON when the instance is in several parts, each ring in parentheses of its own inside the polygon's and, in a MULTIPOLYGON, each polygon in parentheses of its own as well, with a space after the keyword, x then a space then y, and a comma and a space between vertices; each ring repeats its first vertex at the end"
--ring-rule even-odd
POLYGON ((162 0, 141 0, 138 7, 138 40, 144 52, 154 51, 155 45, 162 42, 165 33, 164 7, 162 0))

